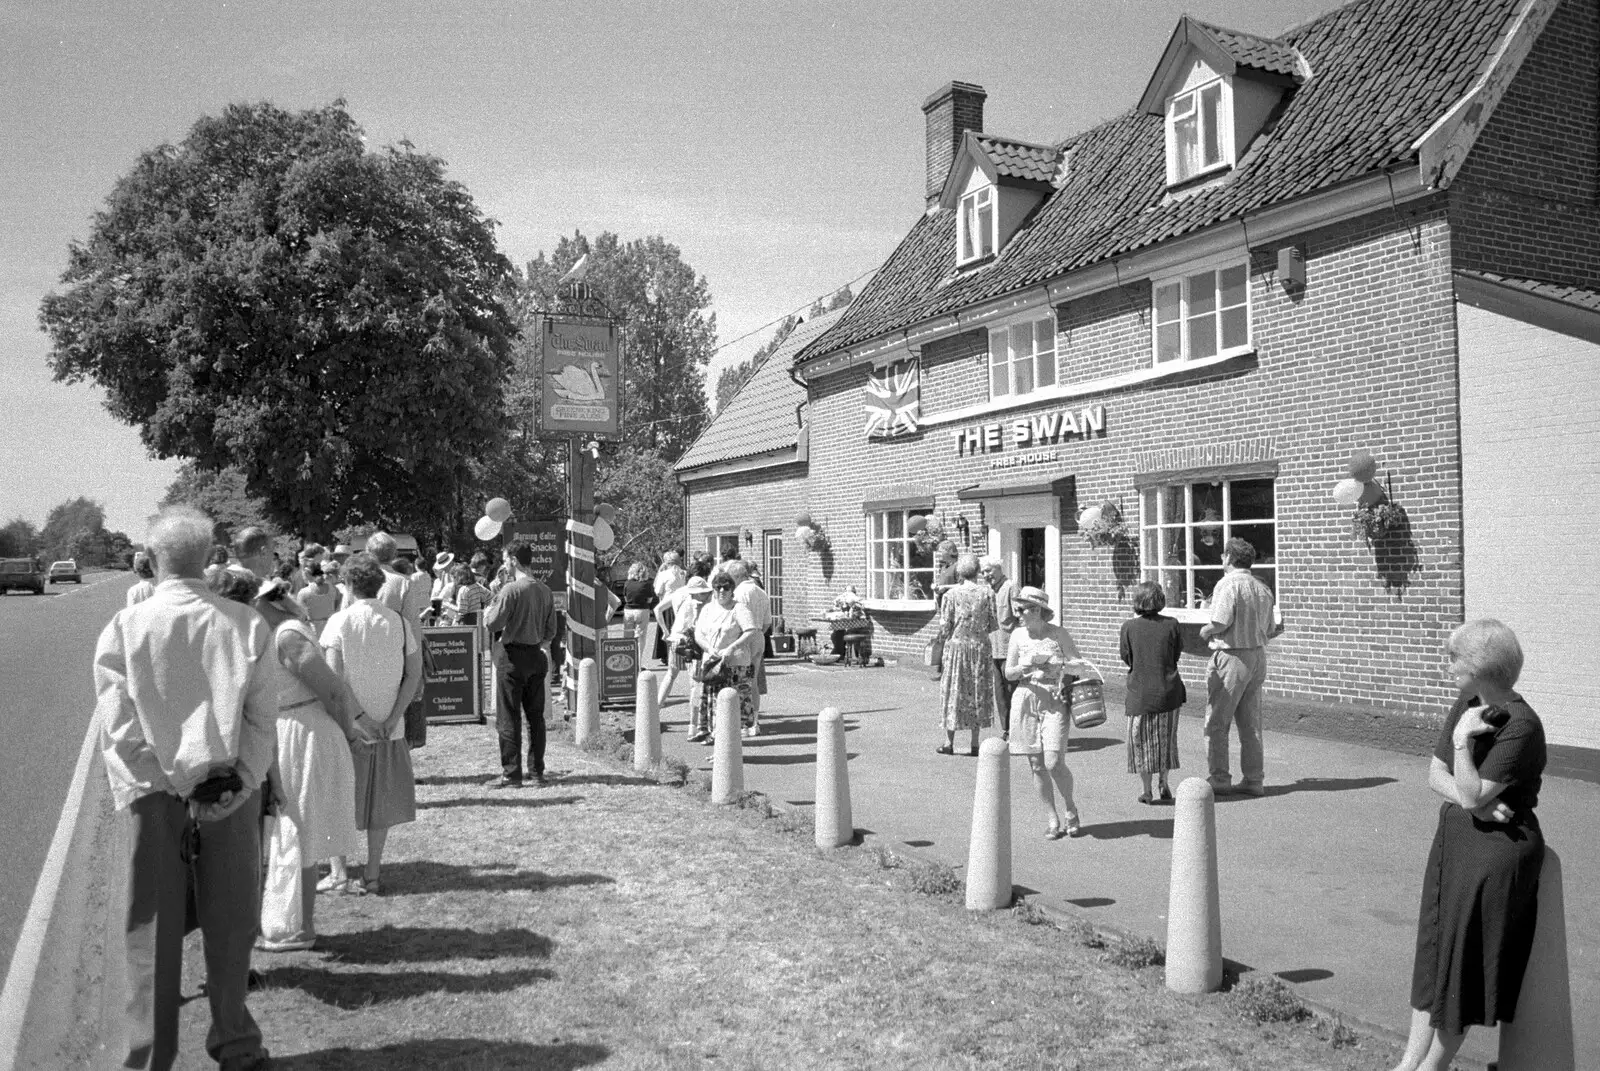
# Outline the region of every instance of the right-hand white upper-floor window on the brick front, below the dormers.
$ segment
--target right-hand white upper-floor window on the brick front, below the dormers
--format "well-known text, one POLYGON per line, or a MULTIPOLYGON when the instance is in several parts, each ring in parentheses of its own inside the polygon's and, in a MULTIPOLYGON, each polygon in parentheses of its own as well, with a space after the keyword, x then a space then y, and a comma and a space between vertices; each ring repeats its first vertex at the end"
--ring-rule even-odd
POLYGON ((1243 248, 1150 277, 1150 365, 1254 352, 1250 253, 1243 248))

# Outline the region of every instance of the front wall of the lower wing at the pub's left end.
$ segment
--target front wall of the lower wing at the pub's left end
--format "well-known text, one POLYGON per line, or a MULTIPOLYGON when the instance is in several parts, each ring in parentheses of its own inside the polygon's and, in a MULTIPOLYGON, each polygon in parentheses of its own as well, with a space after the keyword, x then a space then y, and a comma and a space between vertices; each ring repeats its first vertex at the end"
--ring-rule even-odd
POLYGON ((765 531, 784 533, 784 618, 789 629, 797 629, 811 616, 816 589, 814 578, 819 564, 813 554, 795 540, 795 515, 810 511, 806 493, 806 466, 782 464, 770 469, 733 472, 685 485, 688 499, 688 549, 706 549, 707 530, 738 531, 749 528, 755 543, 739 552, 765 570, 765 531))

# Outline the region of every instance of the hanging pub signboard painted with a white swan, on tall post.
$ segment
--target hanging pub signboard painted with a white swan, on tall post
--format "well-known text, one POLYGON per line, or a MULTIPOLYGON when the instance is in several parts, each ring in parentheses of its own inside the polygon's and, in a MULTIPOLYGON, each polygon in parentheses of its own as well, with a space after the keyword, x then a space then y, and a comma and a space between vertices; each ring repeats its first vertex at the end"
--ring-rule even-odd
POLYGON ((622 360, 618 325, 546 317, 539 341, 539 434, 619 437, 622 360))

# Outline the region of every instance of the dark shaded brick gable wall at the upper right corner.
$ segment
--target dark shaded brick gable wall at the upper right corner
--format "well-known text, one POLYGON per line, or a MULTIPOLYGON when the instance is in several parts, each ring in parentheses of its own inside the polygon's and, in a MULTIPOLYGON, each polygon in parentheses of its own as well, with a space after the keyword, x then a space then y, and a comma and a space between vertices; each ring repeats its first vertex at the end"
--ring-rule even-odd
POLYGON ((1600 280, 1600 3, 1566 0, 1451 186, 1458 267, 1600 280))

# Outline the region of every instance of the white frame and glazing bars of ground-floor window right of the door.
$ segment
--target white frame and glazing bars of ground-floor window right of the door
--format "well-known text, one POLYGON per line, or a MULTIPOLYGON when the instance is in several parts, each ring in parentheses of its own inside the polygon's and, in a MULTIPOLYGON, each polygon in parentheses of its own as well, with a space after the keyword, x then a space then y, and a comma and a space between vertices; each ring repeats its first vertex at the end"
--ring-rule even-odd
MULTIPOLYGON (((1168 483, 1160 483, 1160 485, 1141 488, 1141 491, 1139 491, 1139 578, 1141 580, 1154 580, 1157 584, 1160 584, 1162 591, 1166 592, 1168 586, 1163 583, 1165 576, 1176 573, 1176 575, 1182 576, 1184 591, 1194 592, 1195 591, 1195 573, 1197 572, 1213 573, 1216 578, 1221 578, 1221 575, 1222 575, 1221 548, 1230 538, 1234 538, 1234 535, 1243 535, 1245 538, 1248 538, 1251 535, 1251 531, 1250 531, 1251 528, 1270 527, 1272 528, 1272 556, 1258 560, 1256 565, 1254 565, 1254 568, 1251 572, 1256 576, 1259 576, 1262 581, 1266 581, 1267 586, 1272 588, 1274 592, 1277 592, 1278 600, 1282 600, 1283 599, 1283 586, 1280 583, 1282 581, 1282 554, 1280 554, 1282 540, 1280 540, 1280 523, 1278 522, 1280 522, 1280 514, 1278 514, 1278 480, 1277 480, 1277 477, 1272 477, 1272 475, 1238 475, 1238 477, 1218 477, 1218 479, 1202 477, 1202 479, 1195 479, 1195 480, 1171 480, 1168 483), (1235 519, 1234 517, 1234 490, 1232 490, 1234 483, 1253 483, 1253 482, 1261 482, 1261 480, 1266 480, 1266 482, 1269 482, 1272 485, 1272 515, 1270 517, 1238 517, 1238 519, 1235 519), (1221 488, 1222 488, 1222 493, 1221 493, 1221 498, 1222 498, 1222 511, 1221 511, 1222 512, 1222 519, 1219 522, 1206 522, 1205 517, 1195 517, 1194 488, 1195 487, 1203 487, 1203 485, 1221 485, 1221 488), (1152 511, 1150 511, 1152 493, 1154 493, 1154 499, 1157 503, 1157 512, 1160 512, 1160 503, 1162 503, 1162 498, 1163 498, 1162 493, 1165 490, 1174 488, 1174 487, 1184 488, 1184 496, 1182 496, 1184 515, 1182 517, 1158 517, 1158 515, 1152 517, 1152 511), (1214 531, 1214 536, 1218 540, 1218 544, 1216 544, 1218 546, 1218 554, 1219 554, 1218 564, 1195 562, 1195 557, 1197 557, 1195 556, 1195 541, 1198 538, 1202 538, 1202 530, 1205 530, 1205 528, 1219 528, 1218 531, 1214 531), (1160 548, 1163 546, 1163 540, 1166 538, 1168 533, 1178 533, 1178 531, 1182 533, 1182 559, 1184 560, 1178 562, 1178 564, 1160 560, 1162 559, 1160 548), (1152 548, 1154 548, 1154 554, 1155 554, 1155 559, 1157 559, 1154 562, 1150 560, 1150 557, 1152 557, 1152 548)), ((1253 544, 1254 544, 1254 541, 1253 541, 1253 544)), ((1258 549, 1258 552, 1261 551, 1259 546, 1256 546, 1256 549, 1258 549)), ((1178 618, 1179 621, 1210 621, 1211 620, 1210 605, 1178 607, 1178 605, 1173 605, 1171 602, 1168 602, 1165 613, 1178 618)))

